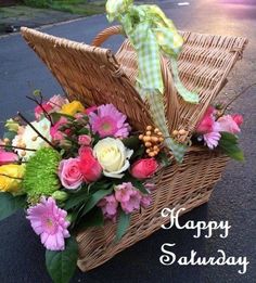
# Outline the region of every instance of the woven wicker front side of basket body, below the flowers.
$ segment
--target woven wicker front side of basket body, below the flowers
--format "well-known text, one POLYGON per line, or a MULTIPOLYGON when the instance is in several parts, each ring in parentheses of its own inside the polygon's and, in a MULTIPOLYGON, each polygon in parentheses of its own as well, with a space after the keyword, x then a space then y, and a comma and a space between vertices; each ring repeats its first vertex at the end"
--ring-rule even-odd
POLYGON ((151 181, 156 183, 152 205, 141 214, 132 214, 130 227, 119 243, 115 243, 116 224, 91 228, 77 236, 78 267, 93 269, 128 246, 161 229, 168 219, 161 217, 164 207, 185 208, 185 211, 206 203, 213 185, 221 177, 228 158, 209 151, 191 150, 182 165, 171 164, 151 181))

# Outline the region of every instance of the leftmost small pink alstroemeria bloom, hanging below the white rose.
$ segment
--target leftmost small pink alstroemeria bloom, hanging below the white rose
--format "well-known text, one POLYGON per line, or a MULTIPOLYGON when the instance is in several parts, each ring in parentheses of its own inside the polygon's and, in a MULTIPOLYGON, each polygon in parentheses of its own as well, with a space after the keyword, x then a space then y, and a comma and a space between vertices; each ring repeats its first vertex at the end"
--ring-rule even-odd
POLYGON ((98 203, 98 206, 101 207, 102 213, 106 219, 116 221, 118 203, 115 198, 115 195, 111 194, 111 195, 103 197, 98 203))

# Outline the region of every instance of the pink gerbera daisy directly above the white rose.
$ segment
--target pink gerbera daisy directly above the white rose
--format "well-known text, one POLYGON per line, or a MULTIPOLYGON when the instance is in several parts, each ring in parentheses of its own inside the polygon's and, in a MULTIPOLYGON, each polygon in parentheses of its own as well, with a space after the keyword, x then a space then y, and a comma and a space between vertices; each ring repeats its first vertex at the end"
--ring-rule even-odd
POLYGON ((126 123, 127 116, 118 112, 113 104, 99 106, 98 113, 91 112, 89 118, 92 131, 99 133, 101 138, 129 136, 130 126, 126 123))

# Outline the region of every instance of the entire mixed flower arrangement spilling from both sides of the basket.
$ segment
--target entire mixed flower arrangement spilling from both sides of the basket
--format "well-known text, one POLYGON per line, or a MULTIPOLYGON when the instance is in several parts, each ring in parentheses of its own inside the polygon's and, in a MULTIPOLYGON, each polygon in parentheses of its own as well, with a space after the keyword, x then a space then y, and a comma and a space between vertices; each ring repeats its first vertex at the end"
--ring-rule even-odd
MULTIPOLYGON (((46 247, 46 263, 54 282, 68 282, 78 257, 76 233, 88 227, 117 222, 116 241, 130 215, 152 204, 150 178, 169 165, 159 129, 137 132, 113 104, 85 108, 40 92, 35 120, 18 113, 5 123, 0 142, 0 220, 18 208, 46 247)), ((203 143, 243 159, 236 133, 241 115, 208 107, 189 143, 203 143)), ((179 142, 184 130, 175 130, 179 142)), ((171 166, 171 165, 170 165, 171 166)))

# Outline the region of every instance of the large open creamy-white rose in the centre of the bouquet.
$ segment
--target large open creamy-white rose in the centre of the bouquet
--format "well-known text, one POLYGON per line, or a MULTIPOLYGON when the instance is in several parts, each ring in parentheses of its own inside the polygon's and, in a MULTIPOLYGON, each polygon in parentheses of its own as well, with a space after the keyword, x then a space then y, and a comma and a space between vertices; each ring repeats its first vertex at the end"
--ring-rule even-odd
POLYGON ((97 143, 93 154, 103 168, 103 175, 121 178, 130 167, 129 158, 133 151, 128 150, 118 139, 105 138, 97 143))

